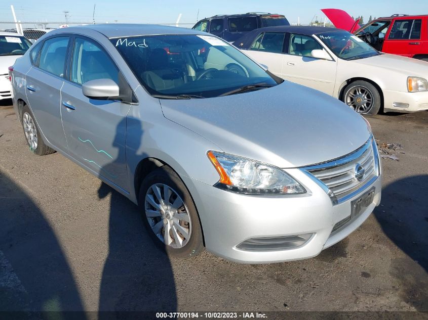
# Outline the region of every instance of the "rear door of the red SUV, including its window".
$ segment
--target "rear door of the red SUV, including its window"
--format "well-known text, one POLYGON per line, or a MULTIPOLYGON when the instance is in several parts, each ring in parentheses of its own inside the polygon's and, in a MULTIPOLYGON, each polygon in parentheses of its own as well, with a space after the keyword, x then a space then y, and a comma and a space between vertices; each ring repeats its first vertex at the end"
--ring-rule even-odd
POLYGON ((382 51, 405 57, 421 54, 421 27, 422 19, 396 19, 386 35, 382 51))

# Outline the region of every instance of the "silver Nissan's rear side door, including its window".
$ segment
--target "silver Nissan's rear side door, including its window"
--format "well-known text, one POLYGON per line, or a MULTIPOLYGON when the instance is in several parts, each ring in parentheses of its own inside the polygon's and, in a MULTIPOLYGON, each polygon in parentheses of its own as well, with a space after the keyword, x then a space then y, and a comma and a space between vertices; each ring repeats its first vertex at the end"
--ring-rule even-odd
POLYGON ((26 74, 27 102, 46 140, 57 150, 67 143, 61 123, 61 86, 69 36, 44 41, 35 65, 26 74))

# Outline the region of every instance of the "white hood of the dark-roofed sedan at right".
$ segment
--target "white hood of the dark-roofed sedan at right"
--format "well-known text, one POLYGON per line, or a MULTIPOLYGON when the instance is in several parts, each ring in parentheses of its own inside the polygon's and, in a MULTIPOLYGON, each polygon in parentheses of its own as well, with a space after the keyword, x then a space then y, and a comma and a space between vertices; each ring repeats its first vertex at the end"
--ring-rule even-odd
POLYGON ((382 74, 385 70, 391 70, 405 74, 406 76, 420 76, 422 78, 428 77, 428 63, 422 60, 383 54, 374 57, 351 60, 358 64, 364 64, 371 67, 379 67, 382 69, 382 74))

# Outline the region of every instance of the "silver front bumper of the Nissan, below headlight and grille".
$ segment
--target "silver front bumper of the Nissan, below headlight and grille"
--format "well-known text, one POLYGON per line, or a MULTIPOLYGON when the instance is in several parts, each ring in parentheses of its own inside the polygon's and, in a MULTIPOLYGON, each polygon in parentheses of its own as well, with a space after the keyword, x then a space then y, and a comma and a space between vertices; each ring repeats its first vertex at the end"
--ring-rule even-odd
POLYGON ((248 196, 217 189, 183 177, 198 208, 208 251, 241 263, 269 263, 310 258, 342 240, 370 215, 381 197, 381 176, 351 199, 333 205, 326 192, 299 169, 287 169, 309 192, 295 196, 248 196), (332 234, 333 226, 351 215, 351 202, 375 188, 373 202, 357 218, 332 234), (295 249, 238 249, 252 238, 313 234, 295 249))

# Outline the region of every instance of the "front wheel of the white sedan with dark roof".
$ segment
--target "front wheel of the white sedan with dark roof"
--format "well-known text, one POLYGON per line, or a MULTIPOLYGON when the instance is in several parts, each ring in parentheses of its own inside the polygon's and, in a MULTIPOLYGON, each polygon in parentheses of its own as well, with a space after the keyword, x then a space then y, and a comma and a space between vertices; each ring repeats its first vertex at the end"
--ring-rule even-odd
POLYGON ((380 110, 380 94, 370 82, 357 80, 349 83, 343 92, 342 101, 356 112, 368 116, 380 110))

